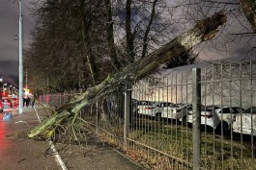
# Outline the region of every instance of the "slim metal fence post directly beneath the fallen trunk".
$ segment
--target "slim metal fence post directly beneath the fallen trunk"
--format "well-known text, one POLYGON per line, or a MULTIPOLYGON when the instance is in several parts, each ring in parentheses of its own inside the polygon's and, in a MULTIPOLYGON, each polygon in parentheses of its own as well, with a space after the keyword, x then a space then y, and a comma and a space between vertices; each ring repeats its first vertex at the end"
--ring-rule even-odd
POLYGON ((130 114, 130 101, 131 101, 131 84, 127 82, 125 92, 125 121, 124 121, 124 145, 128 146, 128 133, 129 133, 129 114, 130 114))

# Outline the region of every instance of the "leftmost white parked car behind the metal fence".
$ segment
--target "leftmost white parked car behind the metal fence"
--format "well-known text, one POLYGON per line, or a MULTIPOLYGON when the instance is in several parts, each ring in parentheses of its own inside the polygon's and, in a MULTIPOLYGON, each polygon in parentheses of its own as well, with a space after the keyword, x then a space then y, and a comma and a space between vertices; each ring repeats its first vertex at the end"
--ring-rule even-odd
POLYGON ((160 105, 161 103, 155 103, 150 101, 142 102, 138 106, 138 114, 151 116, 154 117, 156 120, 160 120, 162 110, 160 105))

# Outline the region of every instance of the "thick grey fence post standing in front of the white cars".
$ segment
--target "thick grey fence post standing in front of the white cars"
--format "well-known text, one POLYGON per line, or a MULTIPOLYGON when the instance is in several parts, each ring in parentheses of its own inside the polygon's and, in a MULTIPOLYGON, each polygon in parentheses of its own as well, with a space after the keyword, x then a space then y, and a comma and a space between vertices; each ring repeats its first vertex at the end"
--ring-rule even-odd
POLYGON ((201 169, 201 69, 192 69, 193 170, 201 169))

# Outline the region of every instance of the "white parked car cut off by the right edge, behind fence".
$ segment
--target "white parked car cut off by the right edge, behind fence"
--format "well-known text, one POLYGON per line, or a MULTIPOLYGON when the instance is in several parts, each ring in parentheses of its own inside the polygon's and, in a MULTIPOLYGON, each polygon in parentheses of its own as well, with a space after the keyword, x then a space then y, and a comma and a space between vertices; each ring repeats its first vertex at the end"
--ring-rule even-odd
POLYGON ((233 132, 256 135, 256 107, 245 109, 236 115, 233 132))

